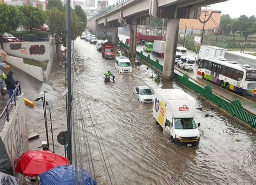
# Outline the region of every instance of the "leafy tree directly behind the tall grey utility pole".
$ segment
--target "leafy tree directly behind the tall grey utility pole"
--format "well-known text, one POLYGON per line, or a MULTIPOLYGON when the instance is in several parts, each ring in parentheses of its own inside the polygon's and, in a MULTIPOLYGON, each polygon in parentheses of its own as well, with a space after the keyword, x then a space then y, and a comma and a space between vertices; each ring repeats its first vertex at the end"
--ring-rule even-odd
MULTIPOLYGON (((71 40, 75 40, 84 31, 84 25, 75 13, 71 13, 71 22, 71 40)), ((47 23, 51 34, 55 33, 56 40, 66 46, 66 12, 57 8, 48 10, 47 23)))

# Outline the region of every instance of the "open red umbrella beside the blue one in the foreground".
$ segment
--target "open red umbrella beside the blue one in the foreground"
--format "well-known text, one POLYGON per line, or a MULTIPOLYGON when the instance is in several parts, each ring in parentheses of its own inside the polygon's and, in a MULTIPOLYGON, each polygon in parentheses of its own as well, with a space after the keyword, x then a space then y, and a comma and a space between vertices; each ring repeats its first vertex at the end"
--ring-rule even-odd
POLYGON ((19 157, 15 172, 25 176, 38 176, 56 166, 68 165, 63 156, 48 150, 31 150, 19 157))

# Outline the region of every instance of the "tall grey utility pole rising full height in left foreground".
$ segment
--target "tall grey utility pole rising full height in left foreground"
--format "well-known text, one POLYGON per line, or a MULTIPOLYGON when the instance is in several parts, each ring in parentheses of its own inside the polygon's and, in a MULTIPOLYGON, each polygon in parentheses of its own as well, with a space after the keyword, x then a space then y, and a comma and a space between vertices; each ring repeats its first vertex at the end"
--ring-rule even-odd
POLYGON ((68 64, 68 160, 72 164, 72 132, 71 132, 71 108, 72 108, 72 90, 71 90, 71 18, 70 18, 70 0, 66 0, 66 35, 67 35, 67 52, 66 52, 66 61, 68 64))

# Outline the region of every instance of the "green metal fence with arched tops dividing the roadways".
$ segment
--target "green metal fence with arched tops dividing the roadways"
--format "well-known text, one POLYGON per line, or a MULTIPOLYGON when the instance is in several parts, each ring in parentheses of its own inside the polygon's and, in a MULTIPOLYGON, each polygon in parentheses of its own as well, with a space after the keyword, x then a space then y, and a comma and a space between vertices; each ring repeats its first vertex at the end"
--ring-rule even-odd
MULTIPOLYGON (((120 46, 129 49, 129 46, 120 42, 120 46)), ((144 56, 143 52, 136 52, 136 54, 143 59, 147 64, 156 67, 158 70, 163 71, 163 66, 159 64, 158 59, 156 61, 152 60, 150 56, 144 56)), ((242 104, 239 100, 227 101, 218 95, 212 92, 212 87, 210 85, 206 85, 205 87, 201 87, 197 84, 194 84, 189 80, 188 75, 185 73, 183 76, 180 76, 177 73, 174 73, 174 78, 176 78, 180 83, 184 84, 194 92, 199 93, 201 96, 206 98, 207 100, 213 102, 213 104, 218 107, 224 109, 228 113, 232 114, 233 117, 244 121, 246 124, 250 125, 252 128, 256 128, 256 116, 250 112, 247 112, 242 108, 242 104)))

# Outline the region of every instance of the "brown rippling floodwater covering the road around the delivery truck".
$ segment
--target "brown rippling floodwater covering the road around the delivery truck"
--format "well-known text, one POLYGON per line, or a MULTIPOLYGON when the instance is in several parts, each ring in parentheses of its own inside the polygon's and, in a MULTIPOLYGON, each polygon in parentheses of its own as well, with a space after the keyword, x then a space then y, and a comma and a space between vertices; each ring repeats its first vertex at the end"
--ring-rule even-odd
POLYGON ((255 183, 256 137, 250 129, 197 100, 197 107, 203 108, 196 110, 194 118, 201 123, 199 146, 173 145, 152 119, 153 105, 139 104, 133 97, 133 88, 183 88, 194 98, 198 95, 176 81, 155 83, 150 77, 156 74, 145 65, 132 74, 118 74, 114 60, 103 59, 96 45, 79 38, 74 51, 78 69, 74 78, 75 100, 79 99, 82 105, 99 184, 107 181, 91 117, 103 138, 117 184, 255 183), (116 83, 104 84, 106 70, 114 72, 116 83), (206 113, 212 116, 206 117, 206 113))

